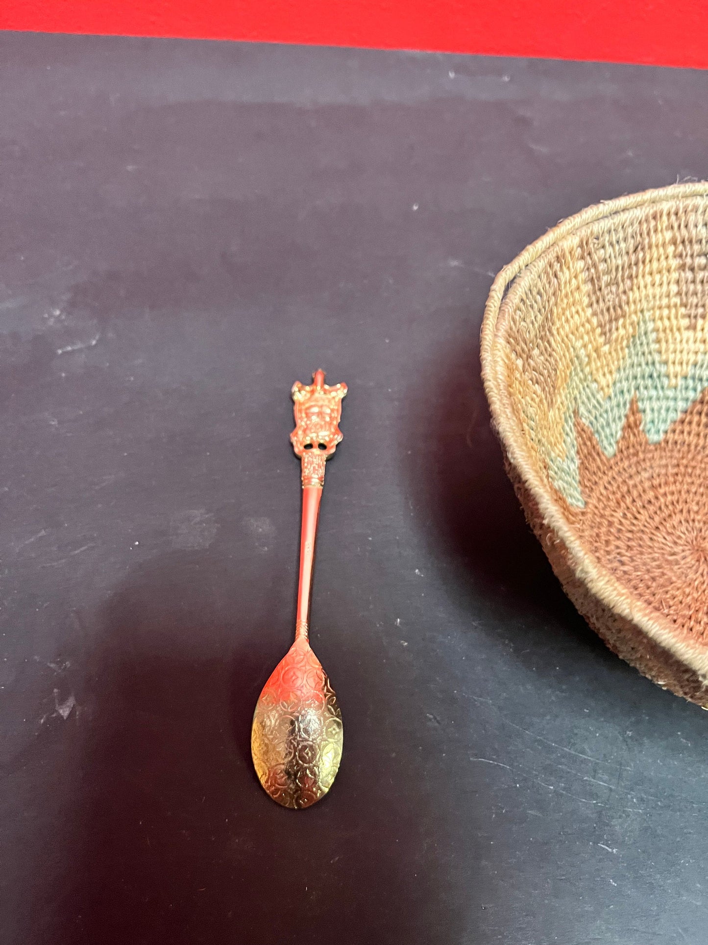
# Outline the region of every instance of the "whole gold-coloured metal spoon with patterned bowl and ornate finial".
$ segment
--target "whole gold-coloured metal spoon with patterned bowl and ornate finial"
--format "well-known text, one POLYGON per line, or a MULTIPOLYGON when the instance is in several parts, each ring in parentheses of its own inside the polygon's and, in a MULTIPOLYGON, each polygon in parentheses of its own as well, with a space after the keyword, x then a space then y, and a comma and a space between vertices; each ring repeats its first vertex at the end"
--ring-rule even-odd
POLYGON ((263 686, 251 729, 251 755, 266 793, 283 807, 310 807, 324 797, 342 757, 342 713, 327 673, 308 642, 314 540, 325 462, 342 440, 339 421, 346 384, 329 387, 317 370, 312 384, 293 387, 295 430, 302 466, 300 580, 295 643, 263 686))

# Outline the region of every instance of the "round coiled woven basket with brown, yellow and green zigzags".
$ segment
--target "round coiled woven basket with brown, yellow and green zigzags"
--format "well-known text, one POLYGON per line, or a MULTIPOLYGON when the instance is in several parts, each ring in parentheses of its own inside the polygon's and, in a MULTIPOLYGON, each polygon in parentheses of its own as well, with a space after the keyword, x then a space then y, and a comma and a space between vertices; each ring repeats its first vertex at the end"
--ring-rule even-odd
POLYGON ((565 592, 708 708, 708 183, 610 200, 498 274, 484 386, 565 592))

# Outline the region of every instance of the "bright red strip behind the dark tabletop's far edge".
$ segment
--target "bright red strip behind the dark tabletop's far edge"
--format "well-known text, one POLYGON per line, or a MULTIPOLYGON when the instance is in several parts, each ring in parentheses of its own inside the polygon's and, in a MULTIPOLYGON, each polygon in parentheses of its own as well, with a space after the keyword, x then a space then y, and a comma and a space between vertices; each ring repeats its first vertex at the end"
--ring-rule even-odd
POLYGON ((0 28, 708 66, 706 0, 5 0, 0 28))

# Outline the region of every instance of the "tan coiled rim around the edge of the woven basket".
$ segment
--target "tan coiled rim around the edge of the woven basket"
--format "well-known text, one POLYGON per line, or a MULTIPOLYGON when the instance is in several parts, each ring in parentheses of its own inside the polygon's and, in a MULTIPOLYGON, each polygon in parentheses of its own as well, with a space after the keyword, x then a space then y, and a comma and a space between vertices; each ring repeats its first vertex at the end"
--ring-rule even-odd
POLYGON ((670 184, 625 197, 602 201, 562 220, 543 236, 520 252, 504 266, 489 292, 481 326, 480 360, 484 389, 489 401, 492 419, 498 437, 515 470, 530 490, 543 516, 544 523, 559 536, 568 551, 568 564, 598 599, 610 610, 631 621, 655 643, 662 646, 685 666, 692 669, 708 685, 708 644, 677 640, 675 625, 663 614, 650 608, 622 584, 598 559, 588 551, 573 524, 565 517, 547 482, 540 474, 531 449, 512 409, 512 398, 504 380, 503 358, 499 355, 499 315, 512 283, 518 284, 530 266, 566 236, 578 232, 597 220, 632 215, 652 204, 676 203, 689 198, 708 199, 708 181, 670 184))

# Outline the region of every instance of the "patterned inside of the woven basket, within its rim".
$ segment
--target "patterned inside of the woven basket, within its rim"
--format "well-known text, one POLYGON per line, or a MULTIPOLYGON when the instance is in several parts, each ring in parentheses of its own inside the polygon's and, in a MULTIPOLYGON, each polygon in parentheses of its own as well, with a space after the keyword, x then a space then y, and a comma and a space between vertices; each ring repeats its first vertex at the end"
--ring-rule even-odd
POLYGON ((525 454, 583 546, 708 643, 708 200, 650 204, 553 244, 498 330, 525 454))

